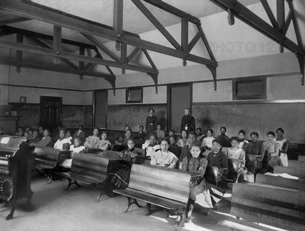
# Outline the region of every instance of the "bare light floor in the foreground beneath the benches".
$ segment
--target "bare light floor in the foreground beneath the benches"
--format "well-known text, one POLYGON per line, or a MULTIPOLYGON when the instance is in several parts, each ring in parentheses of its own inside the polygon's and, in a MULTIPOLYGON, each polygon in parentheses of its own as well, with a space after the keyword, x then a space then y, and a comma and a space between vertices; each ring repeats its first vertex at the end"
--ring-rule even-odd
MULTIPOLYGON (((68 181, 55 181, 47 184, 48 179, 32 173, 32 204, 35 209, 28 212, 25 200, 18 201, 12 220, 6 221, 8 211, 0 211, 0 230, 177 230, 175 219, 159 207, 145 216, 143 208, 133 207, 133 211, 124 214, 127 198, 102 195, 97 203, 98 190, 93 185, 80 183, 83 187, 72 185, 65 191, 68 181)), ((230 196, 225 194, 225 196, 230 196)), ((141 203, 140 203, 141 204, 141 203)), ((145 203, 142 203, 145 205, 145 203)), ((204 208, 195 205, 193 224, 186 224, 182 230, 282 230, 257 225, 255 222, 237 220, 230 216, 230 197, 224 198, 218 205, 204 215, 204 208)), ((5 209, 5 208, 3 208, 5 209)))

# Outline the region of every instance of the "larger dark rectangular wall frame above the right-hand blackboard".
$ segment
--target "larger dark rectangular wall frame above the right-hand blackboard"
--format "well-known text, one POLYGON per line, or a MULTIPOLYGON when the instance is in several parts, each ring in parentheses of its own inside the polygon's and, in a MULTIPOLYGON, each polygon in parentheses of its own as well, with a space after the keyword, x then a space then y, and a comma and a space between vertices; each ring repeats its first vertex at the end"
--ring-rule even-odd
POLYGON ((232 79, 232 93, 233 100, 267 100, 267 81, 266 77, 246 77, 246 78, 234 78, 232 79), (254 82, 261 82, 262 93, 261 94, 253 94, 253 95, 239 95, 238 92, 238 84, 252 84, 254 82))

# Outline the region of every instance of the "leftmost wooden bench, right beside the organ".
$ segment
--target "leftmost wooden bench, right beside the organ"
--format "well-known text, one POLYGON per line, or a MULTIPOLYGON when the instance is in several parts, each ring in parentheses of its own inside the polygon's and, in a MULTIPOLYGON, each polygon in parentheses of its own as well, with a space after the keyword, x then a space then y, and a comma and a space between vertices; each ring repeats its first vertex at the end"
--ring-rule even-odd
MULTIPOLYGON (((37 146, 34 153, 36 154, 35 168, 39 172, 39 170, 56 170, 60 162, 71 154, 71 151, 37 146)), ((49 183, 51 183, 55 176, 54 173, 49 172, 46 175, 50 178, 49 183)))

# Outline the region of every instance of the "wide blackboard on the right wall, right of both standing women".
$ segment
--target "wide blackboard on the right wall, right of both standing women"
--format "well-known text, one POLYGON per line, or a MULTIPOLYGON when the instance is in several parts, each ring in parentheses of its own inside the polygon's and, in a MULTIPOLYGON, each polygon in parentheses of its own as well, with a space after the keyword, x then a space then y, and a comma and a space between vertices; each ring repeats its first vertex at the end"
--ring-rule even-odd
POLYGON ((238 131, 246 131, 246 139, 256 131, 259 140, 267 140, 267 132, 282 127, 284 137, 291 143, 304 143, 305 104, 304 103, 245 103, 245 104, 194 104, 193 116, 196 127, 214 130, 214 137, 220 135, 220 127, 227 128, 226 135, 237 136, 238 131))

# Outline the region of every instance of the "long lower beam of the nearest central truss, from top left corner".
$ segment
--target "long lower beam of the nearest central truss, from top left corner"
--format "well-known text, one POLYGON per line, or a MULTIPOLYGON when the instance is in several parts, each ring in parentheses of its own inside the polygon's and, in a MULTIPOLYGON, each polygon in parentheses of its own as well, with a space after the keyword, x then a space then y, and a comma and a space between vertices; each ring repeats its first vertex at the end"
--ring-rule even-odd
MULTIPOLYGON (((11 2, 8 2, 7 4, 11 4, 11 2)), ((57 13, 57 11, 55 12, 54 9, 48 7, 44 7, 44 9, 37 7, 28 8, 27 4, 24 4, 23 1, 20 2, 19 4, 20 4, 20 8, 18 9, 15 9, 14 7, 10 7, 10 6, 9 7, 1 6, 1 10, 8 11, 10 13, 14 13, 17 15, 45 21, 58 26, 64 26, 67 28, 75 29, 80 32, 84 32, 86 34, 96 35, 111 40, 118 40, 120 42, 127 43, 139 48, 217 67, 217 62, 214 60, 209 60, 207 58, 203 58, 193 54, 185 54, 184 51, 179 51, 173 48, 162 46, 160 44, 141 40, 139 38, 132 37, 128 34, 124 34, 119 37, 117 32, 113 31, 112 29, 109 29, 109 26, 107 28, 107 27, 102 27, 101 25, 89 23, 84 19, 80 19, 79 17, 68 15, 64 12, 57 13), (26 11, 24 9, 26 9, 26 11)))

